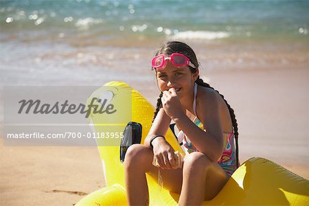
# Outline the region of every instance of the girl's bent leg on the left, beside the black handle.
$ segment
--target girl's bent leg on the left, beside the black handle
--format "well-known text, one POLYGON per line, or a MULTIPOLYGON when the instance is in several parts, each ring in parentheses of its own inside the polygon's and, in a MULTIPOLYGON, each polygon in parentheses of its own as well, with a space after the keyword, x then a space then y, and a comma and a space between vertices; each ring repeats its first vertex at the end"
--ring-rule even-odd
MULTIPOLYGON (((128 205, 148 205, 149 194, 146 172, 158 179, 158 168, 152 165, 153 153, 150 148, 133 144, 126 152, 124 160, 126 195, 128 205)), ((160 170, 163 187, 172 192, 181 192, 182 169, 160 170)))

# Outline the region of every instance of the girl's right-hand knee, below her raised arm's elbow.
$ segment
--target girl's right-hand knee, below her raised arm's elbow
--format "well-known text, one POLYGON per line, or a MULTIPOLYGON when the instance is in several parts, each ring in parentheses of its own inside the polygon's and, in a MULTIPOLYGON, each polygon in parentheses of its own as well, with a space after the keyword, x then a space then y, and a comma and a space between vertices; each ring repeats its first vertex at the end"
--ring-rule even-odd
POLYGON ((202 152, 192 152, 185 156, 185 163, 183 165, 184 170, 190 171, 204 171, 211 165, 210 159, 202 152))

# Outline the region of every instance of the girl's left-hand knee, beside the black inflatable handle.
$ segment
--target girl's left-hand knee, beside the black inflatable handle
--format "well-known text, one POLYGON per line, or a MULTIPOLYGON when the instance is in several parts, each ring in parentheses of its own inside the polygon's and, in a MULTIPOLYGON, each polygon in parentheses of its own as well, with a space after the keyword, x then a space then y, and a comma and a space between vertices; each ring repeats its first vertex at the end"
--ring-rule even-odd
POLYGON ((150 148, 142 144, 133 144, 126 150, 126 157, 124 158, 124 165, 130 167, 130 165, 137 165, 144 163, 148 159, 148 155, 151 154, 150 148))

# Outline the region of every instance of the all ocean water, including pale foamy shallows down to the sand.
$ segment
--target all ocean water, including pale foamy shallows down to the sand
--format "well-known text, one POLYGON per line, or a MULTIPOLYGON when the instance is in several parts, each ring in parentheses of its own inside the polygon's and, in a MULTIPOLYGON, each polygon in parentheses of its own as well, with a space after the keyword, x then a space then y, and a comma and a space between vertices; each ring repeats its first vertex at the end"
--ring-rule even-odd
POLYGON ((0 4, 0 86, 153 81, 149 62, 169 40, 193 45, 207 69, 308 61, 309 1, 0 4))

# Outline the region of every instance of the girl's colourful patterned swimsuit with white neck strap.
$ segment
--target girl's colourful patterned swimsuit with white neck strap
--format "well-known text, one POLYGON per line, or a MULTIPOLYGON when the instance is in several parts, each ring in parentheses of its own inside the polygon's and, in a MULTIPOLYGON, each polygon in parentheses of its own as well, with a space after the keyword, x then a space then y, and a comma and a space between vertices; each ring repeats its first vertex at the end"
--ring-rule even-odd
MULTIPOLYGON (((198 119, 196 115, 196 93, 197 93, 197 84, 194 87, 194 102, 193 102, 193 110, 195 114, 195 118, 193 120, 194 124, 198 126, 198 128, 204 129, 203 123, 200 119, 198 119)), ((179 143, 181 144, 181 148, 185 151, 186 154, 190 154, 191 152, 198 152, 196 147, 192 144, 190 139, 183 133, 181 130, 177 136, 179 143)), ((223 133, 223 152, 220 157, 218 164, 231 176, 233 172, 238 168, 239 165, 236 165, 236 149, 234 144, 234 134, 233 133, 223 133)))

